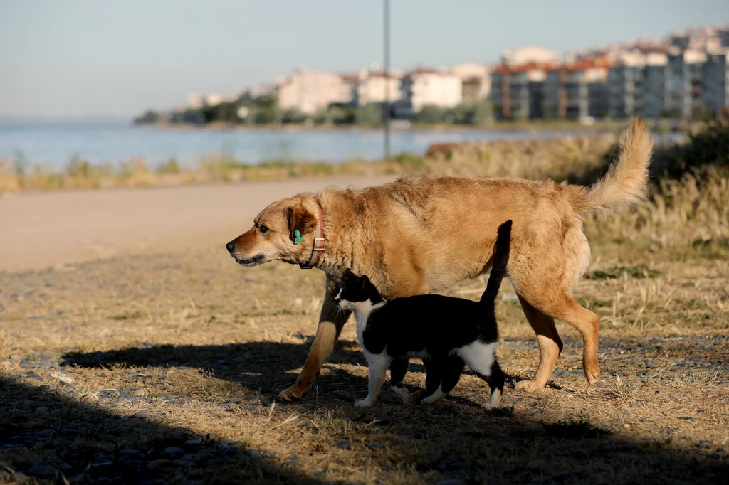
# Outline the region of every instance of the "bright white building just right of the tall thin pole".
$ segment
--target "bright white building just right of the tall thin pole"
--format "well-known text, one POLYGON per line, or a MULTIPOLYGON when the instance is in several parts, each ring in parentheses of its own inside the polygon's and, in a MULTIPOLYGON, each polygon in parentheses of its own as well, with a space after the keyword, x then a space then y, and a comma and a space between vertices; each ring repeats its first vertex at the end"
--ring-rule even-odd
POLYGON ((461 78, 434 69, 410 71, 400 82, 402 98, 393 106, 397 117, 412 117, 423 106, 453 108, 463 102, 461 78))

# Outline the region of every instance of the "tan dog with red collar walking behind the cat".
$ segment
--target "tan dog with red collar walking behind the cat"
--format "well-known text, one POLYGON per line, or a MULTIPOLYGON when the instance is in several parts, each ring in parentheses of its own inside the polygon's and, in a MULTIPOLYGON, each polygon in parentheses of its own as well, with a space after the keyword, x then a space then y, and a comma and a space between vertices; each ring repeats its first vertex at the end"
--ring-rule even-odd
POLYGON ((552 375, 562 350, 555 318, 582 334, 582 368, 588 382, 596 382, 600 318, 572 296, 590 262, 580 215, 644 199, 652 150, 645 122, 636 119, 619 144, 617 160, 591 186, 405 176, 367 189, 298 194, 262 210, 252 229, 227 244, 236 261, 248 267, 311 261, 327 274, 308 358, 295 385, 280 397, 301 398, 332 352, 349 317, 333 303, 346 269, 369 275, 386 299, 443 291, 488 271, 496 229, 508 219, 513 221, 509 276, 541 351, 536 376, 517 387, 542 389, 552 375), (321 248, 321 241, 314 241, 320 223, 326 249, 313 251, 315 244, 321 248))

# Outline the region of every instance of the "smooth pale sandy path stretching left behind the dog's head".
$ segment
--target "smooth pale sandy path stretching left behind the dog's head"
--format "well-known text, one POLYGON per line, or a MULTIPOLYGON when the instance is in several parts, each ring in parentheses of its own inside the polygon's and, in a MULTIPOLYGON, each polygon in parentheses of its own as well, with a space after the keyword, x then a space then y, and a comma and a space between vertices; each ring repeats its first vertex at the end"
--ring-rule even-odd
POLYGON ((0 270, 225 244, 273 200, 391 176, 235 185, 0 194, 0 270))

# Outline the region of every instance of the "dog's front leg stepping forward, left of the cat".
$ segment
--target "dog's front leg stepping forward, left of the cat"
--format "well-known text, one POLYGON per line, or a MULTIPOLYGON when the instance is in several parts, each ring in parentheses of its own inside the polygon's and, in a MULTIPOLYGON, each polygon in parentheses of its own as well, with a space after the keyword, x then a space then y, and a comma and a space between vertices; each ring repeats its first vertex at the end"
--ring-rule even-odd
POLYGON ((332 353, 342 327, 351 314, 351 311, 341 309, 334 301, 339 289, 339 285, 327 275, 327 290, 324 293, 324 303, 321 305, 319 328, 316 328, 316 336, 309 355, 296 383, 281 392, 278 398, 289 402, 300 399, 319 375, 324 360, 327 360, 332 353))

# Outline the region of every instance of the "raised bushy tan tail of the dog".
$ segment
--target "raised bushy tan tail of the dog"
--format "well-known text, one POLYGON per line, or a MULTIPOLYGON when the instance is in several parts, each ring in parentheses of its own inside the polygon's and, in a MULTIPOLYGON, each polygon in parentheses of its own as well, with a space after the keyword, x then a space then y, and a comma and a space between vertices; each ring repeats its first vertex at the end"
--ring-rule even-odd
POLYGON ((636 118, 617 142, 617 159, 590 186, 568 185, 564 192, 577 213, 635 205, 648 192, 648 164, 653 139, 643 118, 636 118))

